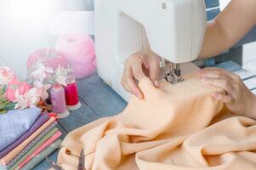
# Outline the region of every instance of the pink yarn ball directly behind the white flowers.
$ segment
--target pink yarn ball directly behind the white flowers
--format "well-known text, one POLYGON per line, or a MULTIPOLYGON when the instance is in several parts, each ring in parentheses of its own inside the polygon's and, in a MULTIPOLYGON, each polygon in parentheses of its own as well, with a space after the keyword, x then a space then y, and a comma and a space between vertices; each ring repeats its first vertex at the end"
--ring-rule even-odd
POLYGON ((27 60, 27 69, 30 70, 33 65, 41 61, 43 65, 53 68, 54 70, 60 65, 68 68, 69 62, 67 55, 63 52, 57 51, 54 48, 38 49, 32 53, 27 60))

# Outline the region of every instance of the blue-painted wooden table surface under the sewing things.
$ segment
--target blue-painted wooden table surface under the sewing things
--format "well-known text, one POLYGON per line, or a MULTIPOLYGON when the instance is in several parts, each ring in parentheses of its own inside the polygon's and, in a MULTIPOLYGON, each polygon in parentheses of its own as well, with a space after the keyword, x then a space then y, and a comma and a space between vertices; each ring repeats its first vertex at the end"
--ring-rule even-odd
MULTIPOLYGON (((251 72, 243 70, 239 65, 231 61, 215 66, 238 74, 256 94, 256 77, 251 72)), ((71 115, 65 119, 59 120, 58 127, 63 133, 62 139, 67 133, 88 122, 93 122, 100 117, 113 116, 120 113, 127 105, 126 101, 105 84, 97 74, 77 81, 77 85, 82 107, 77 111, 72 111, 71 115)), ((49 156, 50 159, 56 161, 57 154, 58 150, 49 156)), ((48 167, 46 161, 42 161, 34 169, 46 170, 48 167)))

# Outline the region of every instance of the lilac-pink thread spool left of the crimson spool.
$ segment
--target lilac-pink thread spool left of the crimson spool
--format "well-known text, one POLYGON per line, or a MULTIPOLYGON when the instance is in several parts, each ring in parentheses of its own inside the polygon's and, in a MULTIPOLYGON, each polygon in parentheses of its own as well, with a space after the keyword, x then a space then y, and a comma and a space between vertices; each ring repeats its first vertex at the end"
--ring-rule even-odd
POLYGON ((65 91, 60 84, 55 84, 51 89, 51 100, 54 113, 57 118, 62 119, 69 116, 70 112, 66 110, 65 91))

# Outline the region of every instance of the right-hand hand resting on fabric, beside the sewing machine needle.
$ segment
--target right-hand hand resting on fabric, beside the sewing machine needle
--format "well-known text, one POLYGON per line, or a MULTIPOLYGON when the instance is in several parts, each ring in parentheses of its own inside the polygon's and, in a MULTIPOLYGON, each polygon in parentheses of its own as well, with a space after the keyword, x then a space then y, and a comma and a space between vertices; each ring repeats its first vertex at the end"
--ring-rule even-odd
POLYGON ((199 71, 202 82, 225 90, 226 94, 214 92, 214 99, 221 100, 236 115, 256 119, 256 96, 245 86, 236 74, 219 68, 199 71))

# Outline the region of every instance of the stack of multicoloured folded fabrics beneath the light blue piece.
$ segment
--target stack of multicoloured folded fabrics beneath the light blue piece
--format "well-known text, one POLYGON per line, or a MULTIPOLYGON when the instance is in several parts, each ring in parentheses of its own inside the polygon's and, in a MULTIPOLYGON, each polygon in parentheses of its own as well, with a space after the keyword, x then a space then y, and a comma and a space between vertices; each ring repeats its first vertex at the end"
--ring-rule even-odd
POLYGON ((42 114, 31 128, 20 136, 13 144, 3 150, 0 159, 0 170, 20 169, 26 166, 42 151, 53 144, 61 136, 56 128, 57 122, 54 116, 42 114))

